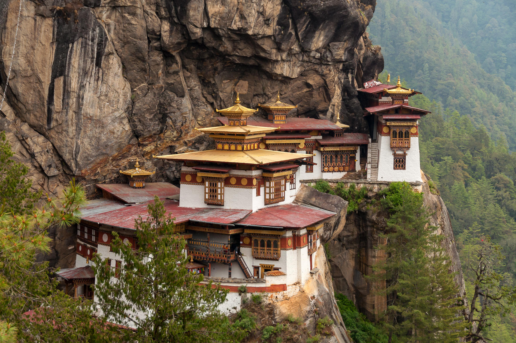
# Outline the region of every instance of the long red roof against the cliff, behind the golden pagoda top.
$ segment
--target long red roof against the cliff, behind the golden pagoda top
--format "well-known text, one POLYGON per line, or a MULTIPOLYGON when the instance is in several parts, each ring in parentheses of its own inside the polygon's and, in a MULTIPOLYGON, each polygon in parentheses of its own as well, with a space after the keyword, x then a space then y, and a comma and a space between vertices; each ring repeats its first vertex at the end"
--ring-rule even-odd
MULTIPOLYGON (((217 117, 217 119, 227 125, 227 117, 217 117)), ((286 124, 273 124, 262 117, 249 117, 247 119, 248 125, 262 126, 266 128, 277 128, 276 131, 300 131, 300 130, 342 130, 342 128, 336 126, 334 122, 326 119, 315 119, 315 118, 297 118, 288 117, 286 124)))

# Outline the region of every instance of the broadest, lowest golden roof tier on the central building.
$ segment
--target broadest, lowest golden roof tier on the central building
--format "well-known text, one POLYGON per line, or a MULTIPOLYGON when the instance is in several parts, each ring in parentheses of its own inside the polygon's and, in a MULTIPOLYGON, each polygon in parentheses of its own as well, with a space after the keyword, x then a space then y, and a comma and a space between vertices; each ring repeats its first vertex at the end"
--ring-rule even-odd
POLYGON ((171 161, 203 161, 261 165, 268 163, 300 160, 312 156, 312 154, 258 149, 248 151, 204 150, 178 153, 172 155, 155 156, 155 158, 171 161))

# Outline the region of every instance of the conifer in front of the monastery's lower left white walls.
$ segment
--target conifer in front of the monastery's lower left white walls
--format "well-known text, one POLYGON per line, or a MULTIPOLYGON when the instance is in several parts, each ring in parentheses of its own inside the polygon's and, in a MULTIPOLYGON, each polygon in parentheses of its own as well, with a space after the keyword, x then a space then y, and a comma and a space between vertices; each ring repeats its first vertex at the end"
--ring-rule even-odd
POLYGON ((106 260, 99 255, 93 258, 95 295, 104 316, 136 326, 136 331, 126 331, 126 341, 241 339, 242 332, 232 330, 228 318, 217 310, 228 291, 212 288, 211 282, 201 284, 203 275, 186 269, 185 241, 173 234, 173 219, 165 215, 158 197, 148 210, 146 219, 135 221, 138 246, 125 245, 118 233, 112 232, 111 249, 124 261, 120 269, 106 268, 106 260), (140 318, 137 311, 147 315, 140 318))

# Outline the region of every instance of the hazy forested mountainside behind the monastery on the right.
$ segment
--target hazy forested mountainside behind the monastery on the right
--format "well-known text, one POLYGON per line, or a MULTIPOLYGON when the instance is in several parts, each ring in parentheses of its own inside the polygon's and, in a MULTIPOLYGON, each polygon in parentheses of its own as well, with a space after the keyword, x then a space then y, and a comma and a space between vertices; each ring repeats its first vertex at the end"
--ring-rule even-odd
MULTIPOLYGON (((411 104, 421 120, 421 166, 446 202, 472 292, 473 245, 502 246, 497 266, 516 281, 516 3, 405 0, 378 2, 370 24, 386 73, 424 93, 411 104), (430 100, 432 99, 432 100, 430 100)), ((489 329, 516 342, 514 310, 489 329)))

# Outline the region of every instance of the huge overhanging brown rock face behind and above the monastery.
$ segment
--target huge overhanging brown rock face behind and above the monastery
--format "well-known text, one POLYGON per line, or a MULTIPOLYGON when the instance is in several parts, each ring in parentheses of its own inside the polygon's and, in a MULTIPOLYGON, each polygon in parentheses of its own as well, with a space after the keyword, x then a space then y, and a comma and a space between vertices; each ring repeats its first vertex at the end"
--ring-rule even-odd
POLYGON ((374 0, 22 0, 17 34, 19 1, 0 4, 0 130, 47 192, 125 182, 136 157, 174 181, 151 155, 210 148, 193 128, 235 91, 256 107, 280 90, 293 115, 363 131, 355 89, 383 69, 374 0))

